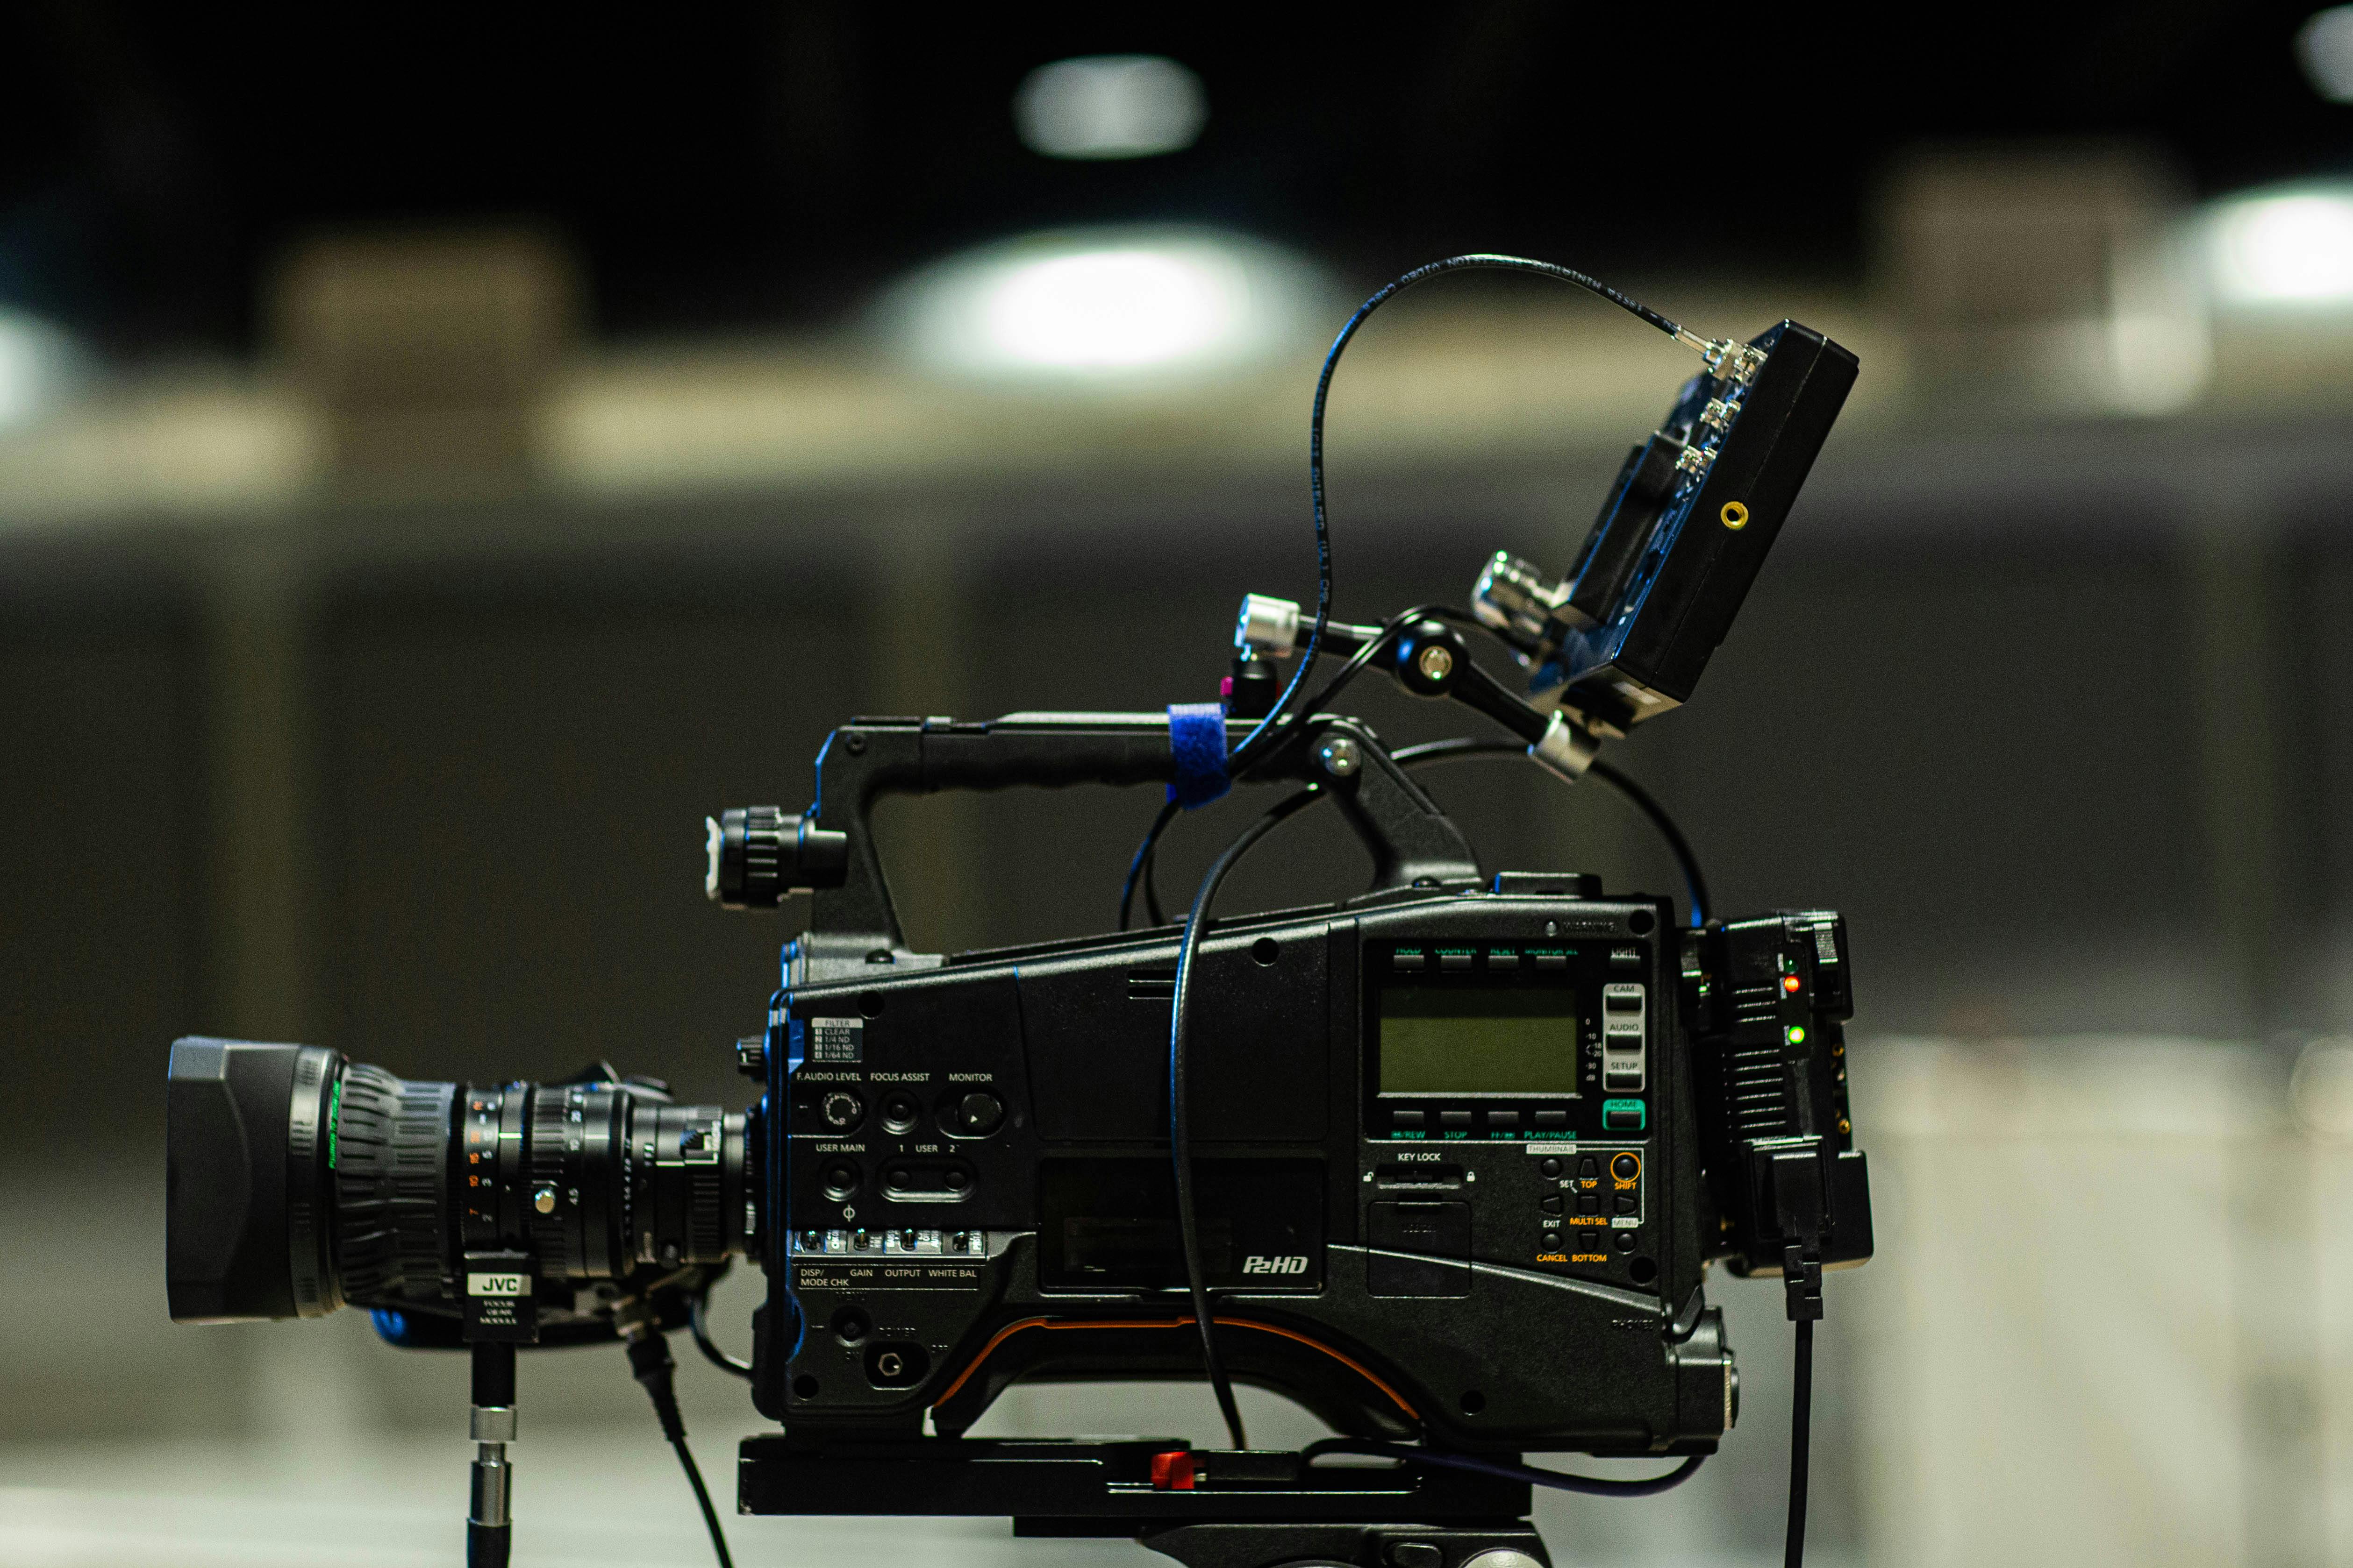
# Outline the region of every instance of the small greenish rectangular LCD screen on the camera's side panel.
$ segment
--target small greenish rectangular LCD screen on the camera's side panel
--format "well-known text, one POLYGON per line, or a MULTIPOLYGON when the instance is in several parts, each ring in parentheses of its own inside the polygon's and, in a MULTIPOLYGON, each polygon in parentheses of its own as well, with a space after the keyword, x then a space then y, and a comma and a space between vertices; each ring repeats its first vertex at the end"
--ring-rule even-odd
POLYGON ((1574 1095, 1577 992, 1381 987, 1381 1093, 1574 1095))

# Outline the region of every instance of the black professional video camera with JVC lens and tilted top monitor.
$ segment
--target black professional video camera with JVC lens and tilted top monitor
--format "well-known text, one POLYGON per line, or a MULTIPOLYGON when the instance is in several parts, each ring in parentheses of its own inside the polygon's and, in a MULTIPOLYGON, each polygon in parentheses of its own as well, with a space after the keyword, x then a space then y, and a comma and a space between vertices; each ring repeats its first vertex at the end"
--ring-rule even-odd
MULTIPOLYGON (((1407 275, 1348 322, 1325 383, 1374 306, 1454 266, 1565 275, 1407 275)), ((315 1046, 174 1044, 172 1316, 360 1305, 395 1345, 471 1347, 478 1563, 508 1540, 513 1349, 612 1338, 725 1561, 671 1392, 680 1326, 781 1422, 739 1455, 751 1514, 1002 1514, 1202 1568, 1511 1568, 1546 1561, 1529 1486, 1687 1476, 1739 1415, 1708 1265, 1784 1279, 1802 1378, 1821 1272, 1871 1255, 1852 957, 1831 912, 1713 919, 1682 837, 1595 752, 1689 698, 1857 367, 1793 322, 1704 343, 1609 299, 1706 369, 1560 581, 1497 555, 1471 611, 1353 625, 1327 614, 1325 574, 1313 614, 1245 599, 1221 703, 852 719, 807 811, 713 818, 711 898, 809 898, 765 1030, 736 1044, 748 1110, 675 1105, 602 1063, 473 1086, 315 1046), (1480 630, 1525 668, 1520 691, 1475 663, 1480 630), (1299 698, 1325 651, 1346 663, 1299 698), (1332 708, 1374 668, 1511 741, 1384 748, 1332 708), (1584 875, 1482 870, 1414 771, 1497 755, 1626 790, 1668 832, 1687 919, 1584 875), (911 950, 873 804, 1066 785, 1167 785, 1120 931, 911 950), (1181 919, 1158 917, 1160 832, 1231 785, 1287 792, 1181 919), (1369 889, 1212 919, 1233 863, 1320 802, 1365 846, 1369 889), (1139 889, 1151 924, 1127 929, 1139 889), (704 1324, 732 1258, 767 1276, 748 1366, 704 1324), (1207 1378, 1231 1448, 967 1436, 1016 1382, 1136 1378, 1207 1378), (1252 1450, 1235 1380, 1334 1436, 1252 1450), (1560 1450, 1680 1465, 1600 1481, 1522 1458, 1560 1450)), ((1322 390, 1318 531, 1320 416, 1322 390)))

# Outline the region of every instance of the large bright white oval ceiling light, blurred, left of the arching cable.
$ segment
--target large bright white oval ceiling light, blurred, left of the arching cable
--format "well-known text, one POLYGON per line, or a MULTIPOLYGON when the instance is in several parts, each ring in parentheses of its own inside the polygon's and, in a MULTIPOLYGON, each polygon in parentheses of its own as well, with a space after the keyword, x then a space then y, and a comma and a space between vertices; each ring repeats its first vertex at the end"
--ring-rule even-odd
POLYGON ((1306 341, 1313 270, 1271 244, 1184 228, 1035 235, 953 256, 885 317, 941 369, 1118 381, 1235 369, 1306 341))

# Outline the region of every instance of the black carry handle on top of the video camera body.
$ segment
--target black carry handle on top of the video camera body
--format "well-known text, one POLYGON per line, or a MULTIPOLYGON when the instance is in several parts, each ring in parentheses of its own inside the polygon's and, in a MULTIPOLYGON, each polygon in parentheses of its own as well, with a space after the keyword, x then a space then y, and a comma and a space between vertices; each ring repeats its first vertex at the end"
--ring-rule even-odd
MULTIPOLYGON (((1228 745, 1249 733, 1228 722, 1228 745)), ((1454 820, 1407 778, 1379 736, 1346 715, 1285 722, 1242 783, 1315 783, 1372 856, 1367 896, 1471 886, 1478 858, 1454 820)), ((1169 783, 1179 762, 1160 712, 1012 712, 1002 719, 852 719, 816 757, 816 802, 800 818, 729 811, 711 830, 711 893, 774 905, 809 891, 795 980, 847 978, 868 964, 925 961, 906 945, 873 837, 885 795, 936 790, 1169 783)), ((936 961, 936 959, 934 959, 936 961)))

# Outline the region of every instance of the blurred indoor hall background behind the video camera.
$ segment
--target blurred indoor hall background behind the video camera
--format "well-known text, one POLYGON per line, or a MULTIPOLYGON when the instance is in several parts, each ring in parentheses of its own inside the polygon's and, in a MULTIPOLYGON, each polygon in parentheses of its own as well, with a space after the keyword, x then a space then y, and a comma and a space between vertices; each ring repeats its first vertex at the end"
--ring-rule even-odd
MULTIPOLYGON (((1727 910, 1854 929, 1880 1258, 1831 1284, 1817 1561, 2353 1563, 2353 7, 1788 9, 0 9, 0 1563, 454 1561, 459 1366, 167 1324, 167 1041, 744 1100, 793 919, 704 903, 704 813, 800 804, 856 712, 1209 698, 1238 597, 1313 592, 1322 346, 1464 249, 1864 364, 1617 748, 1727 910)), ((1337 611, 1565 567, 1692 369, 1525 277, 1384 310, 1337 611)), ((1435 790, 1489 865, 1673 886, 1609 795, 1435 790)), ((911 938, 1108 926, 1153 809, 892 806, 911 938)), ((1360 875, 1304 820, 1231 907, 1360 875)), ((1546 1502, 1560 1561, 1777 1559, 1786 1328, 1720 1298, 1741 1429, 1546 1502)), ((522 1378, 518 1561, 706 1561, 619 1352, 522 1378)), ((758 1422, 682 1378, 725 1476, 758 1422)))

